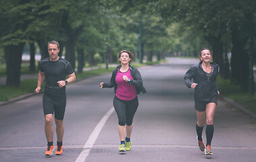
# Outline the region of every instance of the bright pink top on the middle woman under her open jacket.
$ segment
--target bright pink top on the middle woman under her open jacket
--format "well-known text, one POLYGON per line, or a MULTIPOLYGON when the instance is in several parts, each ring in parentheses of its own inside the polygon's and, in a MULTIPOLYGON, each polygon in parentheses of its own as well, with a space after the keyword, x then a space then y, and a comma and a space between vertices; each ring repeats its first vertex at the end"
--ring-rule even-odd
POLYGON ((130 69, 124 73, 118 70, 118 73, 116 74, 116 84, 118 84, 116 97, 120 100, 130 101, 137 95, 136 88, 124 81, 123 76, 127 76, 130 80, 133 80, 132 75, 130 74, 130 69))

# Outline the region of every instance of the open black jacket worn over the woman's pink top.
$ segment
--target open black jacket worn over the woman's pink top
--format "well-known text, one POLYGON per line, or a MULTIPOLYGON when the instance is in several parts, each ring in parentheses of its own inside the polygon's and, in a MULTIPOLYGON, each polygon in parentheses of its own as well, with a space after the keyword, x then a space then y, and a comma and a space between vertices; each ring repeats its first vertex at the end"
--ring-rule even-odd
MULTIPOLYGON (((118 84, 116 84, 116 74, 118 73, 118 70, 120 70, 121 65, 118 65, 116 69, 113 70, 112 76, 109 82, 106 82, 103 84, 103 88, 112 88, 114 87, 115 94, 116 94, 116 89, 118 88, 118 84)), ((143 86, 143 79, 141 78, 140 72, 131 65, 129 65, 130 68, 130 74, 133 78, 131 79, 128 84, 131 84, 132 86, 135 86, 137 94, 140 94, 140 92, 147 92, 145 87, 143 86)))

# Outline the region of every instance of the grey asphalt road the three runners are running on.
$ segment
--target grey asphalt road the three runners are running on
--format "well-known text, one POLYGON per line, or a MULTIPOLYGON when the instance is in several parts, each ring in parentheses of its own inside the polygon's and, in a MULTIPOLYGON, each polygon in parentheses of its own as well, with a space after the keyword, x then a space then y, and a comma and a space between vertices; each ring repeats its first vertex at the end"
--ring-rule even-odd
POLYGON ((68 85, 61 156, 44 155, 42 94, 1 106, 0 161, 256 161, 256 122, 222 99, 213 121, 213 155, 199 150, 193 90, 183 81, 194 63, 197 60, 172 58, 139 68, 147 93, 138 96, 132 151, 118 153, 113 88, 99 88, 99 82, 110 79, 111 74, 104 74, 68 85))

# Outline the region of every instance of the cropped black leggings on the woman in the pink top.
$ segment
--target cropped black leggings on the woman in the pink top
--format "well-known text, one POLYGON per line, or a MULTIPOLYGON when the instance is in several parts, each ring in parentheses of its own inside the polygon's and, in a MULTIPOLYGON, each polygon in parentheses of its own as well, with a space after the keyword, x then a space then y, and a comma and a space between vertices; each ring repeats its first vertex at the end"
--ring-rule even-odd
POLYGON ((120 126, 130 126, 132 125, 132 119, 138 108, 138 97, 130 101, 123 101, 118 99, 115 95, 113 98, 113 107, 118 114, 118 124, 120 126))

